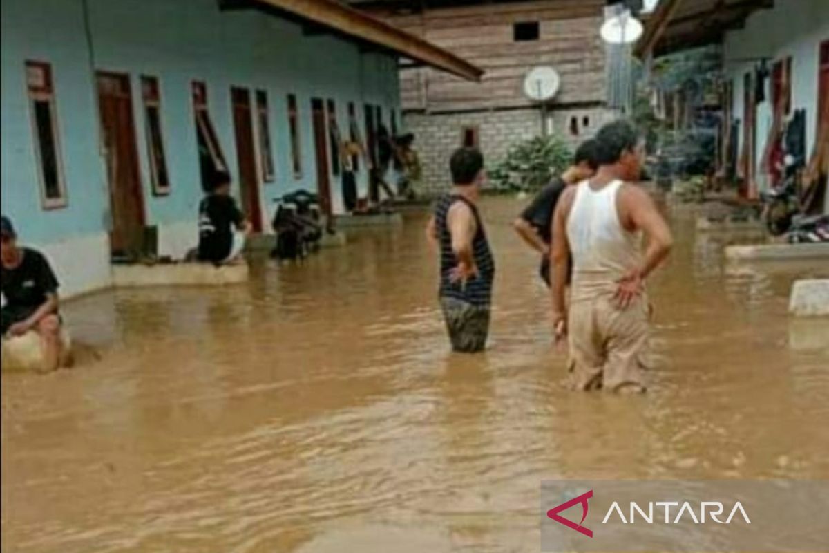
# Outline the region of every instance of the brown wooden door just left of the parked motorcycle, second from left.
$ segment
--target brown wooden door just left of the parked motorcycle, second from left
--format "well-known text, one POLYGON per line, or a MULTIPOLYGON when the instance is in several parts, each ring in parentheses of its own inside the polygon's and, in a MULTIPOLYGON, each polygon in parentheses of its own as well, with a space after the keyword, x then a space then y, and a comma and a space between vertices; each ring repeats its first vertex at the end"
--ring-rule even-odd
POLYGON ((250 90, 230 89, 233 104, 233 129, 236 138, 236 161, 239 166, 239 188, 242 209, 255 232, 262 232, 262 206, 259 201, 259 178, 256 175, 253 110, 250 90))

